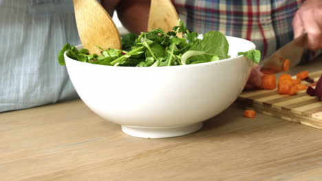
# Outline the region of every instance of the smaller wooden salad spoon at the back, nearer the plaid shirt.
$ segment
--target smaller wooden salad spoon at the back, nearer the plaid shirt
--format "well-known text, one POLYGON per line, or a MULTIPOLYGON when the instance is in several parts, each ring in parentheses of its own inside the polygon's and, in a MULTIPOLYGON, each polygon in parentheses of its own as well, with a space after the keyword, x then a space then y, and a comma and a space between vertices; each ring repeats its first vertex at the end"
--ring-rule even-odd
POLYGON ((151 0, 147 31, 160 27, 167 33, 177 25, 178 20, 178 13, 171 0, 151 0))

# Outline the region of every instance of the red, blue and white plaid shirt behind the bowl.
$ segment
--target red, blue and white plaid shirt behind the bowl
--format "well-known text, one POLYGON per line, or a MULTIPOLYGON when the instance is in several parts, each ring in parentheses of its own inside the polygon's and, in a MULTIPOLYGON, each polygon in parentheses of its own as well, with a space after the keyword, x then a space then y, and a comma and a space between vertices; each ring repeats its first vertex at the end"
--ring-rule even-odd
MULTIPOLYGON (((265 57, 293 39, 292 19, 305 0, 172 1, 191 31, 216 30, 250 40, 265 57)), ((306 52, 302 62, 315 54, 306 52)))

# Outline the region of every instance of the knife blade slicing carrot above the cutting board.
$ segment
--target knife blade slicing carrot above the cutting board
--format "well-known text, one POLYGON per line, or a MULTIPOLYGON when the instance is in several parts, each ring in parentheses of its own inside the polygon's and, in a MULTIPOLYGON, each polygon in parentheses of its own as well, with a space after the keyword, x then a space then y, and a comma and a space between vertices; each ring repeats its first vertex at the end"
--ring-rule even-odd
POLYGON ((262 60, 261 71, 269 70, 273 73, 279 73, 283 70, 283 64, 286 60, 290 61, 290 67, 294 67, 301 60, 303 51, 308 43, 308 34, 304 32, 301 36, 294 38, 290 43, 284 45, 271 56, 262 60))

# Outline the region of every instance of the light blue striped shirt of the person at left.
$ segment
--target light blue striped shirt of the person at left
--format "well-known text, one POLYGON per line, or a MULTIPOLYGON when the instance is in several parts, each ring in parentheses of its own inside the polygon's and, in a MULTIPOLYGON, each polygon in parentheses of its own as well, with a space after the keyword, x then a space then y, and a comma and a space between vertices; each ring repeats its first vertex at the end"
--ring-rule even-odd
POLYGON ((80 44, 72 0, 0 0, 0 112, 77 97, 65 43, 80 44))

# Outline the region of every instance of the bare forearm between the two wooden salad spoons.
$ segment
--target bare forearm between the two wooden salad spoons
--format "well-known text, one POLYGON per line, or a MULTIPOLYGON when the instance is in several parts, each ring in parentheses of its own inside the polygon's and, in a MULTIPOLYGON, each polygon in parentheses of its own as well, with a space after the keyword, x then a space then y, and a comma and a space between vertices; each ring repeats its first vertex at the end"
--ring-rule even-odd
POLYGON ((147 31, 150 0, 102 0, 102 4, 108 11, 117 10, 118 18, 129 32, 147 31))

